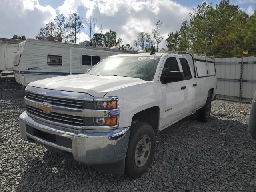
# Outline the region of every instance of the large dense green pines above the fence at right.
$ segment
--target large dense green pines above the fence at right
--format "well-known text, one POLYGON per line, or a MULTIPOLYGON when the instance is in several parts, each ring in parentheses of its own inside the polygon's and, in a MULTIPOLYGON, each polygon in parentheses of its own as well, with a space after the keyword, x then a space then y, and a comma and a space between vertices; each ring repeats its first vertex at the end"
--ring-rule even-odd
POLYGON ((215 6, 204 2, 193 8, 189 16, 180 31, 168 34, 167 50, 232 57, 240 56, 244 48, 256 48, 256 11, 249 17, 238 5, 222 0, 215 6))

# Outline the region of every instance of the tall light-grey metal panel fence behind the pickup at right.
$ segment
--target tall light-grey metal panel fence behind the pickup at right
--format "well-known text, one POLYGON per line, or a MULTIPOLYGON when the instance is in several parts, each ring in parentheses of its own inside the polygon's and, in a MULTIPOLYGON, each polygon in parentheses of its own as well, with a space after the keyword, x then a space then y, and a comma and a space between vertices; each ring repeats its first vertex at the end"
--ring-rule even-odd
POLYGON ((251 102, 256 90, 256 57, 215 58, 217 98, 251 102))

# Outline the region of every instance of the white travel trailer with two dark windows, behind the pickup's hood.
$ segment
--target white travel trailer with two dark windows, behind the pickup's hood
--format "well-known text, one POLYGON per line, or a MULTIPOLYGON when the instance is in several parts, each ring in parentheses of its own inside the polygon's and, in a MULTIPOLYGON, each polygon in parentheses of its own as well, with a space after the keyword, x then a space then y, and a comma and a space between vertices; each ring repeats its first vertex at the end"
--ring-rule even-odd
POLYGON ((16 82, 27 86, 45 78, 84 74, 108 56, 127 53, 135 52, 27 39, 18 46, 13 71, 16 82))

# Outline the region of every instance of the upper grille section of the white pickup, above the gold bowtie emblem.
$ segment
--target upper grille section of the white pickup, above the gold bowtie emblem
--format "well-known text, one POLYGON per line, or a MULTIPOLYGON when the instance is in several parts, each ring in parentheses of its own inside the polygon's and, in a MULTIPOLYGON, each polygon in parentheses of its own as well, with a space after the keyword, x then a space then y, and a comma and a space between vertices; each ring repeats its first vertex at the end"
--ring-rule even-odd
POLYGON ((37 101, 37 102, 47 102, 49 104, 56 105, 56 106, 70 107, 70 108, 76 108, 76 109, 83 108, 83 101, 80 101, 80 100, 51 97, 51 96, 45 96, 45 95, 35 94, 31 92, 26 92, 26 98, 33 101, 37 101))

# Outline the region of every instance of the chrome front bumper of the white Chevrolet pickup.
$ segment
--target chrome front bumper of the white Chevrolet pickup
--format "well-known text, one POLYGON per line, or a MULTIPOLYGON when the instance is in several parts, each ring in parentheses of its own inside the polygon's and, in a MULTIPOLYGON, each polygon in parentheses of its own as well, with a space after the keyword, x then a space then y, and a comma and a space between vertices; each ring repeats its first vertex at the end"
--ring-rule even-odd
POLYGON ((22 138, 32 138, 43 145, 73 154, 74 160, 85 164, 109 164, 124 160, 128 147, 130 127, 114 130, 74 130, 48 124, 31 118, 26 111, 20 115, 22 138), (26 125, 42 132, 70 138, 72 147, 67 148, 26 132, 26 125))

